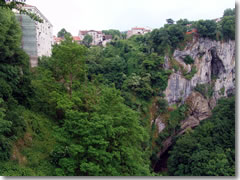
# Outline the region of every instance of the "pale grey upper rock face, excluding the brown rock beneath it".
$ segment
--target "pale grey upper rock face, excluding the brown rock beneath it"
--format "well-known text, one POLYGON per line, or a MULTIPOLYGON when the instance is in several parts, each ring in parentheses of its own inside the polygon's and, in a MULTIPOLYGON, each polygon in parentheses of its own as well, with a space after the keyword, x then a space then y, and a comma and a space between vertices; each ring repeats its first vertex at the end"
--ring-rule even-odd
MULTIPOLYGON (((170 76, 165 90, 169 104, 185 101, 197 84, 209 84, 212 79, 215 79, 215 100, 235 92, 235 41, 220 42, 200 38, 189 43, 183 51, 175 50, 173 58, 190 72, 192 66, 183 61, 187 55, 194 59, 197 73, 191 80, 185 79, 181 71, 170 76)), ((170 68, 167 57, 164 66, 170 68)))

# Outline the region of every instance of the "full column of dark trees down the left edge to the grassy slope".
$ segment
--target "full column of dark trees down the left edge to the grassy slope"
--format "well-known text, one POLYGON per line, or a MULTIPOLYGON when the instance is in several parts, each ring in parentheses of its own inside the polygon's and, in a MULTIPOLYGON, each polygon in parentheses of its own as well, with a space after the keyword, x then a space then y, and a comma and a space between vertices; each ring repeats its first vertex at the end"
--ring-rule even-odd
POLYGON ((21 105, 31 98, 29 58, 20 48, 21 31, 14 14, 0 9, 0 161, 10 157, 11 141, 25 131, 21 105))

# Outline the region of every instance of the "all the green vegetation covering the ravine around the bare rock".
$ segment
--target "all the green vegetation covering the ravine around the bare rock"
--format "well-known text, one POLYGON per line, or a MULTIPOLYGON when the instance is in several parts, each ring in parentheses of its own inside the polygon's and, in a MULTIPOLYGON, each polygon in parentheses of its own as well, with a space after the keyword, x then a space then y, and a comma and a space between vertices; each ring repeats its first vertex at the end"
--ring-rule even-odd
MULTIPOLYGON (((91 46, 91 36, 79 45, 62 29, 58 36, 64 41, 30 72, 9 8, 0 7, 0 174, 5 176, 156 175, 153 164, 162 142, 188 115, 186 105, 169 107, 164 99, 172 73, 164 68, 165 56, 171 68, 191 79, 196 67, 185 72, 172 58, 175 49, 192 41, 186 32, 194 25, 198 35, 212 39, 218 32, 234 39, 235 32, 230 10, 220 24, 168 19, 164 27, 129 39, 105 30, 113 36, 106 47, 91 46), (159 114, 166 128, 156 136, 151 125, 159 114)), ((184 61, 194 63, 190 56, 184 61)), ((206 98, 213 93, 212 86, 195 90, 206 98)), ((221 100, 213 117, 177 140, 169 174, 233 175, 233 117, 233 99, 221 100)))

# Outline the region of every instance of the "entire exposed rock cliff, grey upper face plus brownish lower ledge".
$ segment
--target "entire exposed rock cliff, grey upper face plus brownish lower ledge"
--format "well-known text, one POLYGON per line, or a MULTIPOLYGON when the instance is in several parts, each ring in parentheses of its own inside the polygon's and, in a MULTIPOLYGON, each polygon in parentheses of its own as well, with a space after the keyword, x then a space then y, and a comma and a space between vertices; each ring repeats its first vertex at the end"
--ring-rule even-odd
MULTIPOLYGON (((196 127, 200 121, 208 118, 219 98, 235 94, 235 41, 194 39, 183 51, 175 50, 173 58, 187 72, 190 72, 193 66, 196 67, 197 72, 191 80, 187 80, 180 70, 169 77, 165 90, 166 100, 170 105, 188 104, 189 116, 181 122, 180 130, 162 142, 163 147, 158 157, 169 149, 174 136, 183 134, 188 128, 196 127), (184 63, 187 55, 194 59, 194 64, 184 63), (194 91, 197 84, 213 84, 212 96, 206 98, 194 91)), ((173 70, 168 57, 165 57, 165 68, 173 70)), ((158 127, 158 133, 161 133, 165 128, 161 116, 155 120, 155 124, 158 127)))

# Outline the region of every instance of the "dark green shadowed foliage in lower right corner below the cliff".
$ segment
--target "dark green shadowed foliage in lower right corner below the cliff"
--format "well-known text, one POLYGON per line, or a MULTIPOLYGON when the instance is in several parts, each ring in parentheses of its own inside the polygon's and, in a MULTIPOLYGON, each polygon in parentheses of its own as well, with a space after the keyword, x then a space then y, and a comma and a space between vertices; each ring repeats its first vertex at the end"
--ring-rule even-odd
POLYGON ((175 176, 235 174, 235 97, 219 100, 209 119, 177 139, 168 168, 175 176))

